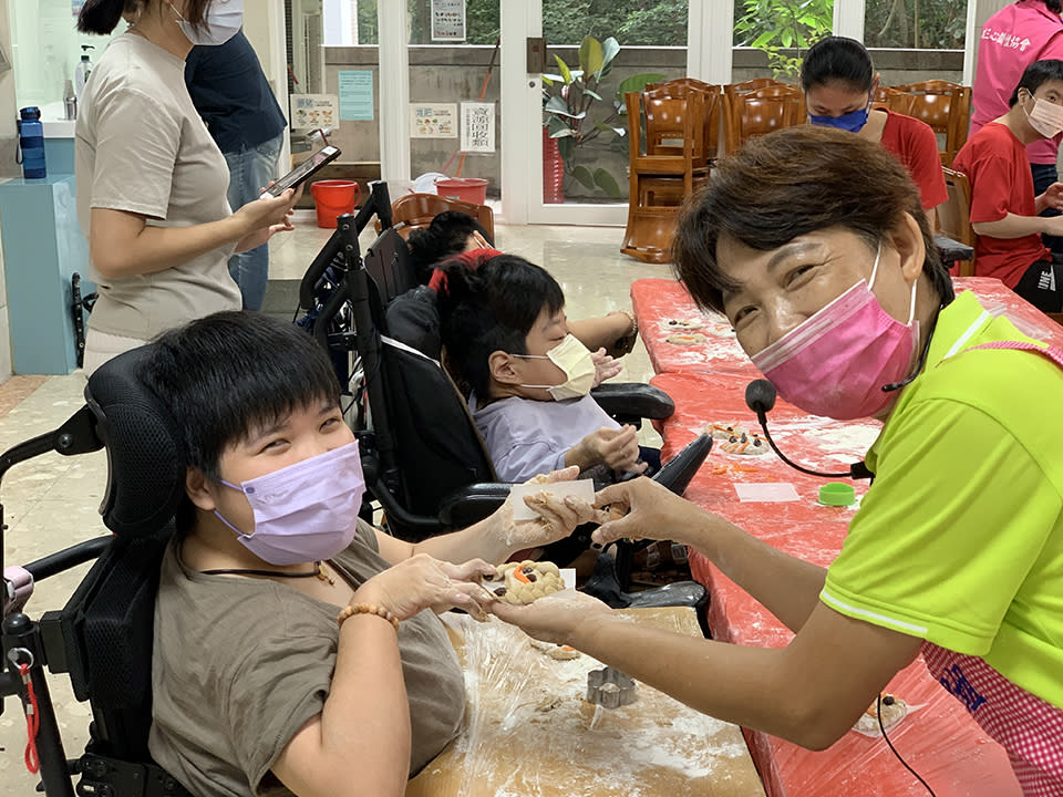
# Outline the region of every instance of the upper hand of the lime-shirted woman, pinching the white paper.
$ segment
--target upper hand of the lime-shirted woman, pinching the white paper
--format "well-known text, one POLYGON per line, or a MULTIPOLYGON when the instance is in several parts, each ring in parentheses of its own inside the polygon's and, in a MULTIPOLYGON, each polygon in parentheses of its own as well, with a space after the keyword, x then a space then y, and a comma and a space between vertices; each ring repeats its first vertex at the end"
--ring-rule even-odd
POLYGON ((704 511, 646 477, 609 485, 595 496, 595 506, 609 518, 591 539, 606 545, 621 538, 670 539, 693 545, 690 531, 704 511))

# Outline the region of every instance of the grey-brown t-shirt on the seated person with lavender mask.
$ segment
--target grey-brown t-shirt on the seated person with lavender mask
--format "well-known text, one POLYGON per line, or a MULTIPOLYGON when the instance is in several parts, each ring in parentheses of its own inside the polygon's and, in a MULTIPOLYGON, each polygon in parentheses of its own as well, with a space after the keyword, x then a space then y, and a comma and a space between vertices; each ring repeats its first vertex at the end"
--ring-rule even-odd
MULTIPOLYGON (((388 562, 370 526, 331 559, 352 584, 388 562)), ((276 581, 204 576, 171 546, 155 604, 155 760, 195 795, 290 795, 270 767, 324 706, 336 669, 339 609, 276 581)), ((399 627, 413 731, 411 775, 457 734, 465 684, 440 619, 399 627)))

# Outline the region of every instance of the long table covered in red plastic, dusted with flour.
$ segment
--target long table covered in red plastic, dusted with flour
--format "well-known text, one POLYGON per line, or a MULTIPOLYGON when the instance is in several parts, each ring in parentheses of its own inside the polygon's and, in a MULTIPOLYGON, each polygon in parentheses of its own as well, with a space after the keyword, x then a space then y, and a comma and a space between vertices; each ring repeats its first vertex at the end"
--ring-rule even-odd
MULTIPOLYGON (((1007 310, 1024 332, 1063 344, 1063 328, 999 281, 959 279, 957 287, 974 290, 991 311, 1007 310)), ((675 414, 663 429, 664 457, 710 423, 739 423, 758 431, 744 401, 746 384, 758 373, 733 340, 705 334, 704 342, 687 346, 664 340, 674 333, 670 320, 703 319, 704 330, 714 329, 719 319, 702 317, 673 280, 638 280, 631 296, 643 342, 658 371, 651 382, 675 401, 675 414)), ((859 460, 877 428, 871 421, 840 423, 809 416, 782 400, 768 414, 772 437, 791 459, 828 472, 845 472, 849 463, 859 460)), ((855 507, 821 506, 816 497, 824 483, 789 468, 774 453, 729 455, 718 444, 687 497, 781 550, 826 566, 842 547, 855 507), (797 497, 767 504, 740 500, 737 490, 755 484, 789 485, 797 497)), ((858 497, 867 490, 867 483, 855 486, 858 497)), ((788 644, 793 634, 704 557, 692 553, 690 563, 694 578, 712 593, 709 620, 716 639, 774 648, 788 644)), ((909 706, 917 706, 889 732, 889 738, 939 797, 1021 794, 1003 749, 930 677, 920 659, 898 673, 888 689, 909 706)), ((879 738, 850 732, 829 749, 815 753, 761 732, 744 733, 771 797, 927 794, 879 738)))

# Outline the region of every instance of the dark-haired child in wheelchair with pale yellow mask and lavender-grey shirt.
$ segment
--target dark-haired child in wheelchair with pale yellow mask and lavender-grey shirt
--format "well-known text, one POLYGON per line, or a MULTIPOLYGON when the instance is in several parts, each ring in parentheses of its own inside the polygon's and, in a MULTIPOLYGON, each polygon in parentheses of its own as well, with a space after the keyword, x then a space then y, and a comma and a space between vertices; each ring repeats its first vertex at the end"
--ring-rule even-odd
POLYGON ((658 452, 640 449, 634 427, 589 395, 592 354, 569 330, 565 294, 545 269, 498 255, 476 270, 451 263, 443 275, 447 363, 471 389, 473 420, 500 479, 575 465, 611 482, 660 466, 658 452))

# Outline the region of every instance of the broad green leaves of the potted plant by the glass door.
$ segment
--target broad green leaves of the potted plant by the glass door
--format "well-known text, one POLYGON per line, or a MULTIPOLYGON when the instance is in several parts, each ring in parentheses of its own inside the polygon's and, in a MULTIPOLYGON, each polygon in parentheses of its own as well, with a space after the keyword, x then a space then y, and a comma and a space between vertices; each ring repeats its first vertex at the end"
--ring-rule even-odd
POLYGON ((606 100, 600 87, 619 52, 620 44, 612 37, 599 42, 587 35, 580 42, 576 69, 555 55, 558 74, 543 75, 543 124, 549 137, 557 142, 565 174, 588 190, 601 190, 613 199, 623 199, 627 195, 617 178, 605 167, 591 169, 577 163, 577 153, 584 144, 603 135, 611 139, 627 135, 623 95, 664 79, 653 73, 631 75, 606 100))

